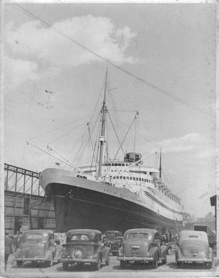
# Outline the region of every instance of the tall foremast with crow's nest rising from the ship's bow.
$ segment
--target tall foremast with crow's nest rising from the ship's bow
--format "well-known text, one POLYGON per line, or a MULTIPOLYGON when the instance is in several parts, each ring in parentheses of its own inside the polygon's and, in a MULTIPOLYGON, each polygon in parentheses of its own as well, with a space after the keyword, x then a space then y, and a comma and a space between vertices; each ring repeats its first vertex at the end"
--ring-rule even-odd
MULTIPOLYGON (((107 69, 106 69, 106 80, 107 80, 107 69)), ((103 148, 104 148, 104 140, 105 140, 105 123, 106 123, 106 89, 107 84, 105 82, 105 91, 104 91, 104 103, 103 103, 103 117, 102 117, 102 128, 101 128, 101 135, 100 135, 100 160, 99 160, 99 172, 98 176, 102 176, 102 160, 103 160, 103 148)))

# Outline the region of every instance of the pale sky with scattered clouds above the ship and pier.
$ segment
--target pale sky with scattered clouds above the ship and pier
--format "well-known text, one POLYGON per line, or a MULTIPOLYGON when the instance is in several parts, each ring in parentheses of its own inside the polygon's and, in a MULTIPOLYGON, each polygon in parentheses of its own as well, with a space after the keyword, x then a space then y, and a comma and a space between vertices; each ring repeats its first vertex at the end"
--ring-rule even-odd
POLYGON ((116 106, 127 111, 124 132, 138 110, 147 138, 139 152, 161 146, 184 210, 214 213, 216 4, 7 3, 4 41, 5 163, 38 172, 54 165, 25 140, 68 155, 84 117, 101 108, 108 68, 116 106))

